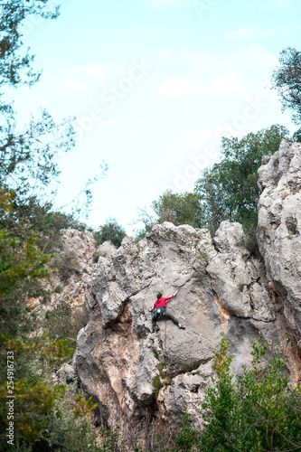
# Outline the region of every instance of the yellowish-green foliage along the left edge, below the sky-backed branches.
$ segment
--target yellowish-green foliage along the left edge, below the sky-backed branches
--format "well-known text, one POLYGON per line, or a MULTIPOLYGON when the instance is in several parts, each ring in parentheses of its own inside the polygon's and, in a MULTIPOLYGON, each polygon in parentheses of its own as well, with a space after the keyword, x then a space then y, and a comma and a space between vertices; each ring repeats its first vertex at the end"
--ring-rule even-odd
MULTIPOLYGON (((0 211, 9 212, 10 198, 5 192, 0 191, 0 211)), ((46 264, 51 259, 49 255, 41 255, 34 248, 34 236, 23 241, 12 237, 9 231, 0 227, 0 425, 5 432, 8 427, 7 405, 5 401, 8 395, 8 382, 11 383, 13 394, 16 396, 14 403, 14 431, 16 435, 25 438, 34 438, 44 428, 41 416, 54 404, 57 397, 61 396, 61 387, 53 388, 41 379, 33 380, 22 368, 24 354, 35 353, 44 347, 46 353, 54 353, 57 357, 66 356, 68 349, 64 342, 38 345, 33 342, 24 342, 20 334, 26 337, 28 332, 29 308, 26 293, 21 291, 27 287, 27 292, 32 293, 28 282, 35 278, 45 278, 48 275, 46 264), (27 284, 24 284, 24 282, 27 284), (18 294, 20 297, 14 298, 18 294), (62 354, 61 354, 62 353, 62 354)), ((25 359, 26 362, 26 359, 25 359)), ((25 366, 26 368, 26 366, 25 366)), ((6 442, 7 438, 4 439, 6 442)))

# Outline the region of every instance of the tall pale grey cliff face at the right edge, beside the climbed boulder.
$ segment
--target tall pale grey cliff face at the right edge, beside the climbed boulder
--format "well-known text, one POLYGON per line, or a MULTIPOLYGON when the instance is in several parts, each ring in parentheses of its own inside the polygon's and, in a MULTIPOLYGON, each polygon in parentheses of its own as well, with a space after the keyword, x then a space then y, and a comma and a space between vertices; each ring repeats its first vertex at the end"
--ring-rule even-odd
POLYGON ((282 140, 259 168, 258 242, 287 325, 301 333, 301 144, 282 140))

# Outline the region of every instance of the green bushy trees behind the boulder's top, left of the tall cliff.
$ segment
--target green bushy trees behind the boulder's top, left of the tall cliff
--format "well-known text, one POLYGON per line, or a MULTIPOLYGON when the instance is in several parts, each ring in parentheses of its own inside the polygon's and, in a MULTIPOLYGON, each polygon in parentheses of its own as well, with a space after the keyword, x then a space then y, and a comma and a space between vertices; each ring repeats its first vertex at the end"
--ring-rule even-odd
POLYGON ((146 231, 163 221, 174 225, 206 227, 212 234, 221 221, 239 221, 246 232, 246 245, 256 247, 257 205, 259 201, 258 169, 263 155, 274 154, 282 138, 288 138, 286 127, 274 125, 257 133, 221 139, 221 162, 206 168, 195 183, 193 193, 168 190, 152 203, 155 216, 140 210, 146 231))

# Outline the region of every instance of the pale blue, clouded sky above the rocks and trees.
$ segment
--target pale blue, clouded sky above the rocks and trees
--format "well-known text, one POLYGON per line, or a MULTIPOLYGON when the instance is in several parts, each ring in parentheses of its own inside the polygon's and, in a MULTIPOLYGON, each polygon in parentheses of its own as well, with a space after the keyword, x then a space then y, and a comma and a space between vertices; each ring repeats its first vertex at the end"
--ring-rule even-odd
POLYGON ((24 44, 42 79, 15 108, 23 120, 41 107, 76 117, 58 203, 104 160, 88 223, 116 218, 131 233, 137 207, 193 190, 222 135, 294 131, 269 83, 281 50, 301 50, 300 29, 299 0, 63 0, 58 20, 32 17, 24 44))

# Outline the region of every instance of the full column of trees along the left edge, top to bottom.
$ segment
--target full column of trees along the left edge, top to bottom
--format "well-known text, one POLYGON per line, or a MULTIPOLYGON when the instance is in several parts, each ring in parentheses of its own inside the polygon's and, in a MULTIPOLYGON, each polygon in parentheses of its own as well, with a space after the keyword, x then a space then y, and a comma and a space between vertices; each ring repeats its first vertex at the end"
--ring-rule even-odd
MULTIPOLYGON (((15 443, 32 441, 46 428, 49 413, 64 389, 53 386, 49 364, 70 359, 62 338, 38 337, 39 318, 33 298, 46 295, 42 280, 50 275, 52 259, 44 243, 73 221, 53 212, 53 180, 60 174, 55 156, 74 144, 71 121, 57 126, 42 110, 24 131, 16 129, 12 104, 5 102, 6 86, 32 85, 40 74, 32 70, 33 56, 23 54, 22 24, 31 14, 56 18, 48 0, 5 0, 0 5, 0 425, 1 449, 7 447, 7 381, 14 383, 15 443), (53 232, 53 230, 55 230, 53 232), (29 340, 31 336, 32 340, 29 340), (8 353, 9 352, 9 353, 8 353), (14 356, 10 363, 7 361, 14 356), (13 366, 13 367, 12 367, 13 366)), ((89 197, 89 189, 84 190, 89 197)), ((75 221, 76 222, 76 221, 75 221)), ((80 225, 81 227, 81 225, 80 225)), ((41 314, 41 313, 40 313, 41 314)), ((10 447, 10 446, 9 446, 10 447)), ((30 444, 24 443, 26 450, 30 444)), ((9 448, 9 450, 13 448, 9 448)))

